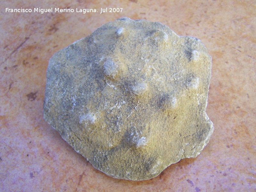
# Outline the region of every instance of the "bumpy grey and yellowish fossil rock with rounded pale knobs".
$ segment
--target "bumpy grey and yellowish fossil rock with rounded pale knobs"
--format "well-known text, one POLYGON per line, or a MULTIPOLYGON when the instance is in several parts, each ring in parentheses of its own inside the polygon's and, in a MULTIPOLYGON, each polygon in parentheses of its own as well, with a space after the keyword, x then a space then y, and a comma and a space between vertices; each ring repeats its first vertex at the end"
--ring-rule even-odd
POLYGON ((210 76, 199 39, 120 18, 52 56, 44 119, 98 170, 150 179, 208 143, 210 76))

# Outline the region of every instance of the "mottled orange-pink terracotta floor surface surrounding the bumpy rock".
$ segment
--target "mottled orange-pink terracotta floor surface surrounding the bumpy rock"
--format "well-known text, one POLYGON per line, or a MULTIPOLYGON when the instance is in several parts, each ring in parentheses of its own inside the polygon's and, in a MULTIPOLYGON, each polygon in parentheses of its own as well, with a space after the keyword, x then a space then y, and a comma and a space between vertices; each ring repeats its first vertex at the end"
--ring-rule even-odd
POLYGON ((1 2, 0 191, 256 191, 255 1, 120 2, 1 2), (20 7, 33 12, 5 12, 20 7), (42 14, 34 7, 75 12, 42 14), (106 7, 123 10, 100 14, 106 7), (209 144, 198 157, 145 181, 117 180, 94 169, 43 119, 53 53, 124 16, 160 21, 178 35, 197 37, 212 56, 207 114, 215 129, 209 144))

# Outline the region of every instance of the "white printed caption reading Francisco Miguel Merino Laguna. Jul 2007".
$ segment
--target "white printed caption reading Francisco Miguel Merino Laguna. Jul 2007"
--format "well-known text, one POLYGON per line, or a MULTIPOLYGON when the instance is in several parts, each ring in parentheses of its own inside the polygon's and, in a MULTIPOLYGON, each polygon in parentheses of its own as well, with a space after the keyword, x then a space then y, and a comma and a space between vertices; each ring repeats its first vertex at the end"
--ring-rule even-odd
POLYGON ((32 8, 32 9, 23 9, 22 7, 19 9, 10 9, 10 8, 5 8, 5 12, 9 12, 9 13, 31 13, 31 12, 35 12, 35 13, 52 13, 52 12, 58 12, 58 13, 121 13, 123 11, 123 8, 100 8, 99 11, 97 11, 96 9, 60 9, 60 8, 49 8, 49 9, 42 9, 42 8, 32 8))

